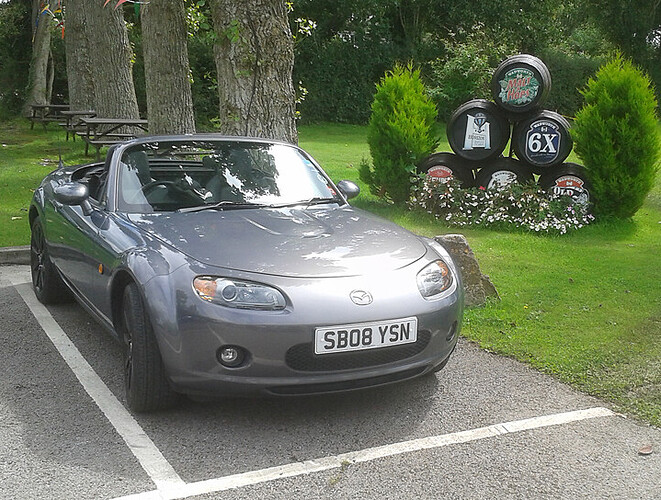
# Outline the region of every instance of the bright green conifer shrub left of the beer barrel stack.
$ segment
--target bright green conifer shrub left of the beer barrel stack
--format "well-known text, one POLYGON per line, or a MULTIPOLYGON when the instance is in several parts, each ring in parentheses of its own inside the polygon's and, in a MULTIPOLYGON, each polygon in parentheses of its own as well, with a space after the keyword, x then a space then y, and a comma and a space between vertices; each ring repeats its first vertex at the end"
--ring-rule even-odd
POLYGON ((372 165, 363 161, 360 178, 370 191, 395 203, 408 200, 417 163, 438 145, 436 106, 420 71, 397 65, 377 85, 367 142, 372 165))

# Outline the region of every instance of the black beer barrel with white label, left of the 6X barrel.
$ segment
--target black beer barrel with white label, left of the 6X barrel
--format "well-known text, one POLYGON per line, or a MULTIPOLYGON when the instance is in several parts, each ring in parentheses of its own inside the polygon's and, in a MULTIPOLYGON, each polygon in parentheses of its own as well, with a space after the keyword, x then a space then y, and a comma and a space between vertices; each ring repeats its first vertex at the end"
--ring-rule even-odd
POLYGON ((447 125, 452 151, 470 161, 498 157, 510 138, 510 124, 491 101, 473 99, 459 106, 447 125))

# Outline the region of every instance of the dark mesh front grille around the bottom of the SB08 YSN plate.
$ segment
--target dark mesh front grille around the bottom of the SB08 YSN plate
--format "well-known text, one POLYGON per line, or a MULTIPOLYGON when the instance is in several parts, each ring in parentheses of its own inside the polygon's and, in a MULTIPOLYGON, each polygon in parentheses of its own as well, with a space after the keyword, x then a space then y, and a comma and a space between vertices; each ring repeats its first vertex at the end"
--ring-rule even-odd
POLYGON ((418 331, 418 340, 411 344, 321 355, 314 353, 313 343, 298 344, 287 351, 285 362, 292 370, 303 372, 367 368, 370 366, 385 365, 415 356, 427 347, 429 339, 431 339, 431 332, 420 330, 418 331))

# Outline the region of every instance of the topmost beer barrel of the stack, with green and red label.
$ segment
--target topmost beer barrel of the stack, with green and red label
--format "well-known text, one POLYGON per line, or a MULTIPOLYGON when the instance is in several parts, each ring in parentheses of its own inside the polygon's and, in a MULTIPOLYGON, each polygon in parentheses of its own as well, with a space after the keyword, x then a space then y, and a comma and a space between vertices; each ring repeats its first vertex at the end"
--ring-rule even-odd
POLYGON ((505 59, 491 78, 491 95, 498 106, 513 114, 540 107, 551 90, 551 73, 541 59, 519 54, 505 59))

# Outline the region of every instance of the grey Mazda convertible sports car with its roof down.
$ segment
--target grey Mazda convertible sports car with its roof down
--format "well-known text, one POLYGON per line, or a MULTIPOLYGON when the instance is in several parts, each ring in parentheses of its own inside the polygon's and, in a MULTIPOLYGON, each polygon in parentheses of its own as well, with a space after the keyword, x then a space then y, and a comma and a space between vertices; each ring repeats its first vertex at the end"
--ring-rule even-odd
POLYGON ((35 191, 34 291, 73 295, 122 342, 135 411, 437 371, 461 326, 457 269, 433 240, 351 207, 358 192, 289 144, 131 140, 35 191))

